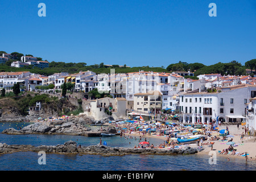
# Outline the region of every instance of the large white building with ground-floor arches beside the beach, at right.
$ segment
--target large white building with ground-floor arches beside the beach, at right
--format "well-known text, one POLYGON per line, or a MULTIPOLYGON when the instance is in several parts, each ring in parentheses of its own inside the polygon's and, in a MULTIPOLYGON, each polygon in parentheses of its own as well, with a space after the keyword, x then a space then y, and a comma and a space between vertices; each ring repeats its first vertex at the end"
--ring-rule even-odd
POLYGON ((237 85, 221 88, 215 93, 188 92, 180 94, 180 120, 211 123, 245 120, 247 102, 256 96, 256 86, 237 85))

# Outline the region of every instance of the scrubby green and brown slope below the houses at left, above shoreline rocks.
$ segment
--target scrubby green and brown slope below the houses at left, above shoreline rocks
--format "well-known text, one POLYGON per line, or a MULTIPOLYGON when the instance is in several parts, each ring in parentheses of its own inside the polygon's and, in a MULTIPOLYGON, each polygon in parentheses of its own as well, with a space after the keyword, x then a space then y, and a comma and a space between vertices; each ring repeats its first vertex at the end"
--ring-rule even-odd
POLYGON ((76 109, 77 106, 72 105, 66 99, 59 100, 48 94, 37 95, 28 93, 26 96, 1 99, 0 121, 15 122, 27 119, 34 121, 39 117, 57 117, 59 115, 70 113, 76 109), (42 103, 42 109, 40 111, 32 111, 30 115, 28 115, 29 107, 35 106, 36 102, 42 103))

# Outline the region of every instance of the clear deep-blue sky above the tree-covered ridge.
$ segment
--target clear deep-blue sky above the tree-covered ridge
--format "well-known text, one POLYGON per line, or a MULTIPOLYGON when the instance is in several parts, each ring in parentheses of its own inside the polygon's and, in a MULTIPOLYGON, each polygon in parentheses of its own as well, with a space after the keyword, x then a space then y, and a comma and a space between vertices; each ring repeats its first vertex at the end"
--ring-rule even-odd
POLYGON ((254 0, 1 1, 0 51, 48 61, 167 67, 256 59, 254 0), (46 17, 38 4, 46 4, 46 17), (217 17, 210 17, 209 3, 217 17))

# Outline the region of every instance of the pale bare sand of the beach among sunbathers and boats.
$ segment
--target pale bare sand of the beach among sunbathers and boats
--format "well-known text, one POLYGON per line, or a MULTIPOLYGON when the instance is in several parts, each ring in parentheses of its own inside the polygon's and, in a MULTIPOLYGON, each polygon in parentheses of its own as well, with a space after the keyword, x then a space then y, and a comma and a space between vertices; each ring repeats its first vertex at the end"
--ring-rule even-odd
MULTIPOLYGON (((252 137, 252 136, 249 136, 249 135, 245 135, 243 137, 243 139, 241 140, 241 134, 242 133, 245 133, 245 130, 242 129, 242 126, 240 125, 239 128, 237 128, 237 125, 221 125, 221 126, 218 126, 219 127, 219 131, 220 130, 223 130, 223 129, 226 129, 226 126, 228 126, 228 129, 229 129, 229 134, 230 135, 233 135, 233 142, 235 142, 235 144, 237 146, 234 147, 234 149, 237 149, 236 152, 240 152, 241 153, 244 153, 244 152, 247 152, 248 155, 248 160, 254 160, 256 162, 256 137, 252 137)), ((126 136, 143 136, 142 134, 139 134, 138 131, 135 133, 125 133, 126 136)), ((166 140, 166 136, 159 136, 159 133, 156 133, 155 135, 144 135, 144 138, 148 138, 148 140, 150 140, 150 138, 158 138, 158 139, 163 139, 163 142, 166 140)), ((229 144, 226 144, 228 143, 228 140, 231 139, 231 138, 227 138, 226 140, 222 140, 222 137, 220 137, 221 139, 220 140, 209 140, 209 137, 208 137, 208 140, 205 140, 203 142, 203 148, 204 150, 195 154, 195 155, 209 155, 209 152, 211 151, 211 147, 209 147, 209 145, 204 145, 204 143, 210 143, 210 142, 214 142, 213 144, 213 151, 216 152, 216 155, 217 157, 220 156, 220 157, 225 157, 225 158, 240 158, 240 159, 245 159, 245 156, 240 156, 238 154, 236 155, 230 155, 230 154, 219 154, 220 152, 218 151, 222 151, 222 150, 225 150, 226 148, 229 147, 229 144)), ((191 144, 185 144, 185 146, 190 146, 190 147, 197 147, 197 143, 191 143, 191 144)), ((200 146, 201 146, 201 143, 200 143, 200 146)))

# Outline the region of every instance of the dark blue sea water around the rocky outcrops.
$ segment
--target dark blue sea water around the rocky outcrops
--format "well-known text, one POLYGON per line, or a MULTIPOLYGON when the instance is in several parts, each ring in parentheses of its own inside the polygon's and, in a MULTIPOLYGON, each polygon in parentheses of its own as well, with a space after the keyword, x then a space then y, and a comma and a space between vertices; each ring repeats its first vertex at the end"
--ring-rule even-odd
MULTIPOLYGON (((0 143, 57 145, 68 140, 77 142, 77 145, 89 146, 100 142, 100 137, 84 137, 73 135, 7 135, 2 131, 13 127, 24 127, 31 123, 11 122, 0 123, 0 143)), ((98 127, 98 126, 88 126, 98 127)), ((147 137, 145 137, 147 138, 147 137)), ((128 136, 101 137, 111 147, 138 146, 139 138, 128 136)), ((144 140, 144 138, 142 138, 144 140)), ((162 139, 147 138, 154 146, 163 143, 162 139)), ((256 162, 241 159, 231 159, 217 156, 216 163, 209 163, 210 155, 124 155, 101 156, 81 154, 46 154, 45 164, 39 163, 36 152, 14 152, 0 155, 1 171, 255 171, 256 162)))

